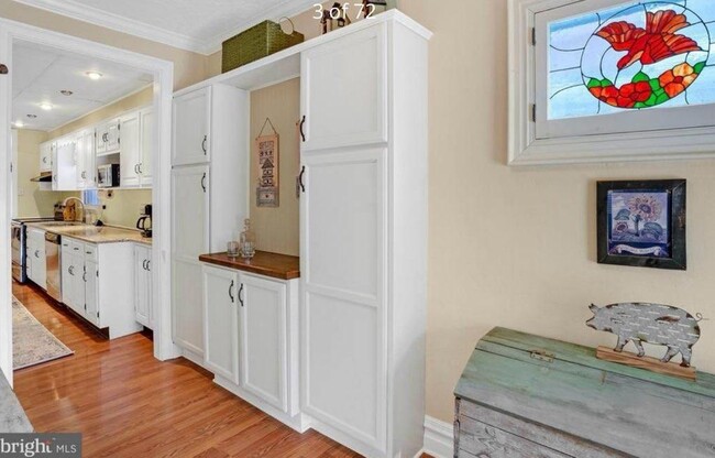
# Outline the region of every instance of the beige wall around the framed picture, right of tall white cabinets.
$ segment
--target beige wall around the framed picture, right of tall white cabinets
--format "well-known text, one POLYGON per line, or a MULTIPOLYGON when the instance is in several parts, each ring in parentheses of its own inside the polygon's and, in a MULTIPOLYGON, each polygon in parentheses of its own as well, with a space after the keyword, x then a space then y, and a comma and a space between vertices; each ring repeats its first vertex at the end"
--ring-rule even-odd
MULTIPOLYGON (((507 2, 402 0, 430 42, 430 225, 427 412, 450 422, 454 384, 494 326, 614 345, 586 328, 587 305, 652 301, 715 318, 715 163, 514 168, 507 151, 507 2), (596 263, 598 179, 686 178, 689 269, 596 263)), ((307 12, 296 20, 317 34, 307 12)), ((218 56, 210 61, 220 68, 218 56)), ((715 325, 694 364, 715 372, 715 325)), ((656 352, 662 355, 662 349, 656 352)))

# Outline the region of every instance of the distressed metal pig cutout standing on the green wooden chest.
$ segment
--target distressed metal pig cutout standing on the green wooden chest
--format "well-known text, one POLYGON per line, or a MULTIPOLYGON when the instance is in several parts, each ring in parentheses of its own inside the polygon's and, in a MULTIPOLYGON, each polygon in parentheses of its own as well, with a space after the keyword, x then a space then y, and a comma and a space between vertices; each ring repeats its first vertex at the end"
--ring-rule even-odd
POLYGON ((690 367, 692 348, 700 339, 697 323, 702 316, 694 318, 688 312, 669 305, 627 302, 610 304, 598 308, 591 304, 594 317, 586 321, 596 330, 605 330, 618 336, 615 351, 623 351, 629 341, 638 349, 638 356, 646 355, 642 342, 663 345, 668 352, 661 359, 669 362, 681 353, 684 368, 690 367))

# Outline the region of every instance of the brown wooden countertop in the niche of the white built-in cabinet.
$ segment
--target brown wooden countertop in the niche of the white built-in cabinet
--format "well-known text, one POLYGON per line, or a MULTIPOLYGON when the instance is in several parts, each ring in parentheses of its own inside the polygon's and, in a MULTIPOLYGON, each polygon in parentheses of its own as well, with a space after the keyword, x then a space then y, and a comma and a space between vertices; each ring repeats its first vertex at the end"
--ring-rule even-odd
POLYGON ((230 258, 227 253, 201 254, 199 261, 271 276, 279 280, 300 277, 300 258, 256 251, 253 259, 230 258))

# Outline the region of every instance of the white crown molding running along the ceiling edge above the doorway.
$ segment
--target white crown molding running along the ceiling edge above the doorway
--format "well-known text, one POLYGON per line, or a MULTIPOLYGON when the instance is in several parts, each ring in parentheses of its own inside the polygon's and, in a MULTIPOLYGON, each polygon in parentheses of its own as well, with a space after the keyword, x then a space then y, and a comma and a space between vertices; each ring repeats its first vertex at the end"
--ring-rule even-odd
POLYGON ((249 26, 265 19, 277 20, 280 17, 293 17, 309 9, 317 0, 287 0, 262 11, 246 20, 238 20, 237 25, 229 31, 221 32, 210 40, 200 40, 182 33, 160 29, 154 25, 124 18, 118 14, 88 7, 74 0, 13 0, 18 3, 38 8, 55 14, 61 14, 78 21, 88 22, 117 32, 139 36, 141 39, 162 43, 179 50, 191 51, 202 55, 210 55, 221 51, 224 40, 235 35, 249 26))

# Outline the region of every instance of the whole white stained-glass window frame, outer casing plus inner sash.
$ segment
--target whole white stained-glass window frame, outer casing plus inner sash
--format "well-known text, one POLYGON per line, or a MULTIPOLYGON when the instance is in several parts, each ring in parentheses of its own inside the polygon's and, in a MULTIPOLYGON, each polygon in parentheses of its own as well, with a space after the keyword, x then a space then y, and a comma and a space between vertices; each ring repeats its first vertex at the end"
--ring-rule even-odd
MULTIPOLYGON (((683 160, 715 157, 715 122, 702 126, 703 120, 715 120, 715 105, 661 108, 652 113, 618 113, 601 117, 583 117, 573 120, 548 121, 557 129, 544 129, 547 116, 547 94, 544 75, 538 76, 537 62, 539 46, 547 43, 547 21, 539 21, 537 14, 547 18, 549 11, 563 9, 564 17, 608 8, 627 0, 509 0, 509 165, 568 164, 585 162, 622 162, 652 160, 683 160), (539 79, 541 78, 541 79, 539 79), (537 83, 543 90, 537 91, 537 83), (673 121, 666 126, 663 116, 673 121), (671 115, 672 113, 672 115, 671 115), (535 116, 536 115, 536 116, 535 116), (623 124, 632 115, 647 115, 660 118, 657 130, 585 134, 579 129, 571 129, 573 134, 563 132, 568 122, 600 122, 604 129, 614 123, 623 124), (601 118, 601 119, 596 119, 601 118), (696 120, 683 123, 683 119, 696 120), (538 123, 539 124, 538 124, 538 123), (698 124, 700 126, 698 126, 698 124), (698 127, 695 127, 698 126, 698 127), (537 128, 539 138, 537 137, 537 128), (542 132, 552 130, 548 135, 542 132)), ((542 47, 546 50, 546 47, 542 47)), ((542 51, 544 52, 544 51, 542 51)), ((546 72, 546 64, 541 65, 546 72)), ((631 118, 632 119, 632 118, 631 118)), ((652 124, 651 124, 652 126, 652 124)), ((623 129, 620 129, 623 131, 623 129)))

